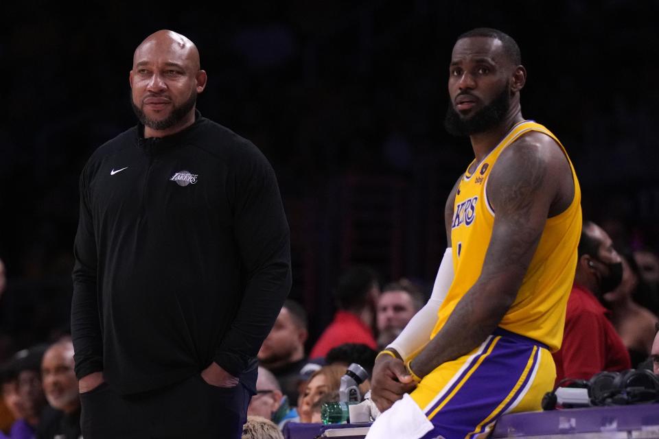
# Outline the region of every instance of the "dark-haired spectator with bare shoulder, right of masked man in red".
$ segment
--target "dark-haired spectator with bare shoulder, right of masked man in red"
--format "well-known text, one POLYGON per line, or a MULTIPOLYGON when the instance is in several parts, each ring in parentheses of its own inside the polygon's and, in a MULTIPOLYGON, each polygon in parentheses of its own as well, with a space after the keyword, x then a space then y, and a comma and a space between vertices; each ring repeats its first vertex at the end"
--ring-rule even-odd
POLYGON ((645 361, 654 340, 654 324, 657 316, 633 299, 638 286, 638 272, 632 257, 622 258, 623 281, 610 292, 605 292, 605 305, 611 310, 611 322, 632 361, 632 368, 645 361))

